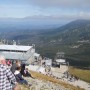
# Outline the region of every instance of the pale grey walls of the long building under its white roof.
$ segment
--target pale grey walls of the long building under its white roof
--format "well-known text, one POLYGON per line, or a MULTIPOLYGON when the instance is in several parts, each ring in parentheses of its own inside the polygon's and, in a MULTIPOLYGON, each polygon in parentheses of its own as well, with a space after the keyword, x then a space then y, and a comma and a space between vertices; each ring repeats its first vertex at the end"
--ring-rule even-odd
MULTIPOLYGON (((14 50, 15 51, 15 50, 14 50)), ((5 56, 6 59, 9 60, 21 60, 21 61, 28 61, 28 64, 34 61, 34 53, 35 53, 35 48, 30 48, 27 52, 22 51, 22 52, 14 52, 14 51, 0 51, 0 55, 5 56)))

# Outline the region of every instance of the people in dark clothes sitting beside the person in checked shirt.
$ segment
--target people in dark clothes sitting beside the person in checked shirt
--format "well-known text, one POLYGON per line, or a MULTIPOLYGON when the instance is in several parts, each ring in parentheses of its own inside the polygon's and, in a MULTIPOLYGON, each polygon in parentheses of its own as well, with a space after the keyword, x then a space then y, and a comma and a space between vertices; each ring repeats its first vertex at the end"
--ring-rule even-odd
POLYGON ((21 64, 20 61, 16 60, 16 62, 11 66, 11 71, 15 75, 18 83, 29 85, 28 82, 22 77, 32 77, 28 72, 28 68, 25 68, 25 64, 21 64))

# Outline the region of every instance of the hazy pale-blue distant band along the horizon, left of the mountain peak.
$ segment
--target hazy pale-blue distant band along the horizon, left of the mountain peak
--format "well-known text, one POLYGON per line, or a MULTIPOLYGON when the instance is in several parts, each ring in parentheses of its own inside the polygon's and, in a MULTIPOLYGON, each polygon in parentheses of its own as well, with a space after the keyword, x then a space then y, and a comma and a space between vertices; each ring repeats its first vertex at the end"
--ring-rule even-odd
MULTIPOLYGON (((8 30, 38 30, 50 29, 60 26, 58 21, 35 18, 0 18, 0 31, 8 30)), ((62 24, 61 24, 62 25, 62 24)))

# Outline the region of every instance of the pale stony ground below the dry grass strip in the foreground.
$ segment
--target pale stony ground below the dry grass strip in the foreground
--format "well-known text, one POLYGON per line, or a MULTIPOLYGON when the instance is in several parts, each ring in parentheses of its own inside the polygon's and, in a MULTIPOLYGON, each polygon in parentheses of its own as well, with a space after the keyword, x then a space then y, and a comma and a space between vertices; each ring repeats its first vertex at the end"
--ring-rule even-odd
POLYGON ((28 81, 29 84, 31 84, 30 90, 70 90, 49 81, 42 81, 28 77, 25 77, 25 79, 28 81))

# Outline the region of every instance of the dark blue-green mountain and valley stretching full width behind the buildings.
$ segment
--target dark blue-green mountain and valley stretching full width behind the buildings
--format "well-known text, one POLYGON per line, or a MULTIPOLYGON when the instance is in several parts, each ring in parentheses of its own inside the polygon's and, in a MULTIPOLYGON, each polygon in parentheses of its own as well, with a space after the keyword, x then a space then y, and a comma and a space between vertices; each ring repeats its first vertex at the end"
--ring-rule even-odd
POLYGON ((65 52, 71 65, 90 66, 90 20, 75 20, 56 29, 17 29, 0 37, 21 44, 35 43, 36 51, 50 58, 58 51, 65 52))

